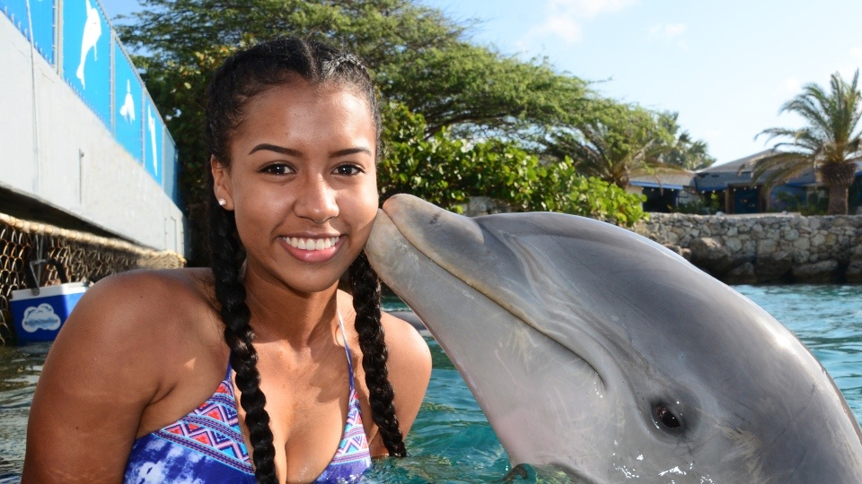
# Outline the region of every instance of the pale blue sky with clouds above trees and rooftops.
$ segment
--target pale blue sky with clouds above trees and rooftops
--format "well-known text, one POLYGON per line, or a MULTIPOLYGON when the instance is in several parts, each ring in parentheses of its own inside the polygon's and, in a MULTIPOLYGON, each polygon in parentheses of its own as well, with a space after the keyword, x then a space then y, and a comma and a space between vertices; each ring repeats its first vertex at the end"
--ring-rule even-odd
MULTIPOLYGON (((846 79, 862 64, 857 0, 421 0, 476 20, 471 39, 499 51, 544 56, 613 99, 680 113, 719 163, 768 147, 803 84, 846 79)), ((102 0, 114 17, 136 0, 102 0)))

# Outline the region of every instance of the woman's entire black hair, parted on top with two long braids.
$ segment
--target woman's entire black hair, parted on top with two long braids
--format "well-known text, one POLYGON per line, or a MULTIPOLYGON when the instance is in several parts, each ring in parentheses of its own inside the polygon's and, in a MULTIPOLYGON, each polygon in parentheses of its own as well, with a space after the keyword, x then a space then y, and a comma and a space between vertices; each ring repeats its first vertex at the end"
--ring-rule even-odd
MULTIPOLYGON (((367 99, 377 131, 380 152, 380 115, 374 84, 356 56, 303 39, 277 39, 241 50, 230 56, 216 71, 209 84, 207 102, 207 146, 222 165, 230 165, 230 139, 242 124, 243 108, 250 99, 269 87, 295 82, 335 83, 356 89, 367 99)), ((209 172, 209 170, 207 170, 209 172)), ((213 178, 209 173, 212 187, 213 178)), ((211 192, 213 193, 213 192, 211 192)), ((245 286, 240 277, 242 244, 236 231, 234 213, 209 200, 210 247, 215 277, 216 298, 224 321, 224 340, 231 350, 231 366, 236 385, 242 393, 254 460, 255 477, 260 483, 277 482, 275 448, 266 397, 260 390, 258 354, 249 324, 251 313, 245 302, 245 286)), ((406 454, 403 436, 395 415, 392 386, 386 370, 387 352, 380 324, 380 281, 360 255, 348 275, 356 309, 356 332, 362 350, 362 366, 368 386, 372 418, 380 428, 383 444, 391 455, 406 454)))

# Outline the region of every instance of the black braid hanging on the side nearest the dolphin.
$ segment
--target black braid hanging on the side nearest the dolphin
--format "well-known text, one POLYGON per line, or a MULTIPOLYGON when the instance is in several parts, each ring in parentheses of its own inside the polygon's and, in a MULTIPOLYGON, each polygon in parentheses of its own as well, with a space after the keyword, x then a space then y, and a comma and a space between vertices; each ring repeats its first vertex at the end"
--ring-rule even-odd
POLYGON ((368 401, 371 416, 380 428, 383 445, 389 454, 404 457, 404 437, 398 426, 393 403, 395 392, 389 383, 386 369, 386 343, 383 341, 383 326, 380 324, 380 280, 365 253, 350 265, 350 280, 353 283, 353 307, 356 309, 356 333, 359 333, 359 348, 362 350, 362 367, 365 369, 365 384, 368 385, 368 401))

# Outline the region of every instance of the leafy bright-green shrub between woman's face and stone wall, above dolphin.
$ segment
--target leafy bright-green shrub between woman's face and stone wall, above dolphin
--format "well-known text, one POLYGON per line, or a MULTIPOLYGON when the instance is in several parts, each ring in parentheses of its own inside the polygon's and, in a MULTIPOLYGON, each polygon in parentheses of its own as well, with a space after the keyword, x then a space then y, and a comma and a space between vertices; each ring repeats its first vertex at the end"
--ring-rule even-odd
POLYGON ((542 162, 514 142, 453 139, 443 129, 425 138, 425 121, 403 105, 383 107, 382 200, 413 194, 453 212, 487 196, 515 212, 564 212, 630 227, 647 217, 645 197, 578 175, 570 159, 542 162))

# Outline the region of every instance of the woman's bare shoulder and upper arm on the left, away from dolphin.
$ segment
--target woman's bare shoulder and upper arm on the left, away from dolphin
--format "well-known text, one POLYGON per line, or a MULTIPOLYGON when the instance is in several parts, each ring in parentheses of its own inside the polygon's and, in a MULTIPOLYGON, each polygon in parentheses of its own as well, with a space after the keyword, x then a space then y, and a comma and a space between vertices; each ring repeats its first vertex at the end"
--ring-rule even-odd
POLYGON ((206 276, 124 272, 84 293, 48 351, 33 395, 27 473, 99 470, 105 480, 119 480, 142 429, 161 428, 211 392, 224 366, 207 361, 226 355, 214 343, 206 276))

